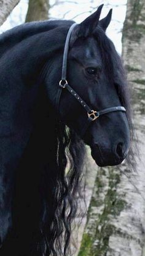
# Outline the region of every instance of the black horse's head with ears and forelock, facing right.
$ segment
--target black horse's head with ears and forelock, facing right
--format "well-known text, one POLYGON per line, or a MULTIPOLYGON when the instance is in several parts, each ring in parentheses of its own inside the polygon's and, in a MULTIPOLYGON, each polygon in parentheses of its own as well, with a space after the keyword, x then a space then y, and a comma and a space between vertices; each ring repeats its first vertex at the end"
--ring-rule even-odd
POLYGON ((66 86, 63 86, 63 78, 60 81, 61 96, 59 85, 55 87, 55 93, 60 97, 57 107, 61 120, 90 146, 96 163, 106 166, 118 165, 127 156, 130 129, 128 109, 127 113, 114 111, 114 106, 127 108, 127 83, 120 57, 105 33, 112 10, 99 20, 102 7, 73 28, 68 56, 65 56, 65 59, 68 57, 66 86), (67 84, 71 86, 68 90, 67 84), (112 111, 97 118, 99 112, 109 108, 112 111), (90 125, 87 125, 88 116, 94 118, 90 125))

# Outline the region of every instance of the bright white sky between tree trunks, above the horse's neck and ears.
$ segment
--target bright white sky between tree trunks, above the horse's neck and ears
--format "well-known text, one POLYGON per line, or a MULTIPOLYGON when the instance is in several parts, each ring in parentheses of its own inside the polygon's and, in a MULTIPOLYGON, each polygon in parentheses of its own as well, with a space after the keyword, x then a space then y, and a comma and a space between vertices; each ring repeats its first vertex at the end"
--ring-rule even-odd
MULTIPOLYGON (((122 28, 126 14, 127 0, 50 0, 49 17, 52 19, 71 19, 80 23, 95 12, 97 6, 104 4, 101 18, 108 14, 109 9, 113 8, 112 21, 107 30, 107 35, 116 46, 119 54, 122 52, 122 28)), ((11 12, 6 22, 1 26, 0 33, 9 30, 25 22, 26 12, 28 10, 28 1, 21 0, 15 9, 11 12)))

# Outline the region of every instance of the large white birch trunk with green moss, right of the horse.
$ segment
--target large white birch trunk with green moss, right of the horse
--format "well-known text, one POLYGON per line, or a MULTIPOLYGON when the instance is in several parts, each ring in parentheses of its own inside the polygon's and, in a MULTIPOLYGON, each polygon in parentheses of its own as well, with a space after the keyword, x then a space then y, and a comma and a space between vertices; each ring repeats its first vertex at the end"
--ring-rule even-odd
POLYGON ((123 59, 133 88, 138 147, 136 173, 99 168, 78 256, 144 256, 145 240, 145 4, 128 0, 123 59), (125 175, 123 174, 125 173, 125 175))

